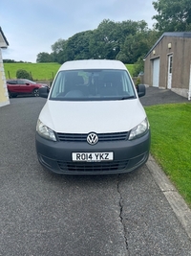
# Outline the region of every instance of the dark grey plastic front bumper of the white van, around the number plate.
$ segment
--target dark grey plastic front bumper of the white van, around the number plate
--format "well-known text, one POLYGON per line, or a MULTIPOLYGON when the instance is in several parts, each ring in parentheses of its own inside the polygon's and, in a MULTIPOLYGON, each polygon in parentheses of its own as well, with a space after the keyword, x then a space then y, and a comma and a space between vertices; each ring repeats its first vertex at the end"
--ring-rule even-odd
POLYGON ((149 156, 150 129, 132 141, 98 142, 95 146, 87 142, 50 141, 36 132, 36 152, 42 166, 53 173, 63 175, 109 175, 131 172, 143 165, 149 156), (73 152, 113 152, 110 161, 73 161, 73 152))

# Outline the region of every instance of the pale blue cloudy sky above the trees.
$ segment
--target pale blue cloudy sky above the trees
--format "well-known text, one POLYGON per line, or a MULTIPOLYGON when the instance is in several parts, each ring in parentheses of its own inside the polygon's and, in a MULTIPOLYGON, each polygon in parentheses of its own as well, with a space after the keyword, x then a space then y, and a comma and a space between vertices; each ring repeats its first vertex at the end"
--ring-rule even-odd
POLYGON ((52 53, 58 39, 95 30, 104 19, 145 20, 153 28, 153 0, 6 0, 0 4, 0 27, 9 47, 3 58, 36 62, 52 53))

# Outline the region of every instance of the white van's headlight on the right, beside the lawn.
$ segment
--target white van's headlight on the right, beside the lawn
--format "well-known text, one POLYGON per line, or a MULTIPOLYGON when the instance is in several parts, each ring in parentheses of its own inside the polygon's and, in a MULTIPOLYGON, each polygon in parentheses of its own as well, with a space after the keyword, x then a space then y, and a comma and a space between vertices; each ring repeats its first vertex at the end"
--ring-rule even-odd
POLYGON ((149 122, 147 118, 145 118, 136 128, 132 128, 129 135, 129 140, 134 140, 143 136, 148 129, 149 129, 149 122))

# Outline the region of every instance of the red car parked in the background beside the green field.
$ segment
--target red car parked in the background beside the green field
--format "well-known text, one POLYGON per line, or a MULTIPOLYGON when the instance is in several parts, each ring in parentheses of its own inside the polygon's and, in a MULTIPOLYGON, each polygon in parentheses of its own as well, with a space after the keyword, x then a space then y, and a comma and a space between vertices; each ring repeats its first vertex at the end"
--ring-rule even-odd
POLYGON ((39 96, 38 89, 41 87, 48 87, 44 83, 36 83, 35 81, 16 79, 7 81, 9 97, 16 97, 17 95, 32 94, 33 96, 39 96))

